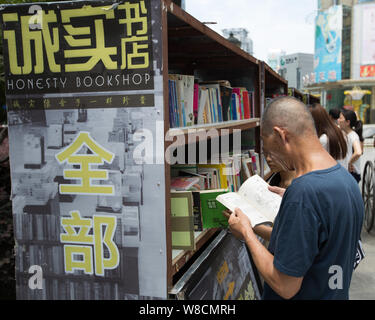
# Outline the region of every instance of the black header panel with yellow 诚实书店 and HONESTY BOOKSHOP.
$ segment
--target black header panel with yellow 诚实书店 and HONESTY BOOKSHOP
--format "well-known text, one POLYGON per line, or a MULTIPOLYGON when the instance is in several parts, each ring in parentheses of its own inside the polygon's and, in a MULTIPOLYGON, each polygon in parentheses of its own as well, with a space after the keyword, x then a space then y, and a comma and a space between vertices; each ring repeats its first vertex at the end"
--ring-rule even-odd
POLYGON ((154 88, 150 1, 32 7, 2 14, 8 94, 154 88))

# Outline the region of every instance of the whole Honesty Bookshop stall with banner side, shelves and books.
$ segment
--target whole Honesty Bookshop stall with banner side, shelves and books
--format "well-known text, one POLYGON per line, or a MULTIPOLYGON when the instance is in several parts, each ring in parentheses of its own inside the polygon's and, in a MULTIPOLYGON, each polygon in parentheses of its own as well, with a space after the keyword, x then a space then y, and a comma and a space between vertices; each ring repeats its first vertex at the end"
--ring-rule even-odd
POLYGON ((170 0, 39 5, 0 10, 17 298, 259 299, 216 198, 287 81, 170 0))

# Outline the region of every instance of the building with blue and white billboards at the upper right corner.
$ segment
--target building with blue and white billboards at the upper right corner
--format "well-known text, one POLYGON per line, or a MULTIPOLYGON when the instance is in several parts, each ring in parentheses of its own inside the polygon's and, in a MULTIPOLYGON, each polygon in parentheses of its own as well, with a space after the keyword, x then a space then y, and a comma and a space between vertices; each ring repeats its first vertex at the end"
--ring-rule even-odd
POLYGON ((353 108, 364 123, 375 123, 374 21, 374 0, 318 1, 315 63, 323 62, 326 67, 316 67, 307 81, 309 91, 321 94, 321 103, 327 109, 353 108), (330 19, 330 12, 335 9, 340 9, 341 16, 330 19), (321 17, 326 23, 321 23, 321 17), (338 24, 341 30, 334 28, 338 24), (319 37, 327 41, 317 42, 319 37), (341 37, 340 43, 335 41, 340 50, 334 57, 330 49, 332 39, 337 37, 341 37), (322 53, 324 48, 325 54, 322 53), (333 77, 337 70, 332 64, 338 65, 337 77, 333 77))

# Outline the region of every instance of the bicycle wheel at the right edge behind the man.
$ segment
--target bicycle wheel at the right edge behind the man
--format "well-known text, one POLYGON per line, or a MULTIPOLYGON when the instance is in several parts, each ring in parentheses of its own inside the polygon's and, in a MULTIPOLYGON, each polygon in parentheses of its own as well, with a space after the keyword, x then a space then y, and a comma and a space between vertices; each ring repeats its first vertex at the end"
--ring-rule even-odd
POLYGON ((374 224, 374 165, 371 161, 367 161, 363 171, 362 181, 362 198, 365 206, 365 216, 363 225, 367 232, 370 232, 374 224))

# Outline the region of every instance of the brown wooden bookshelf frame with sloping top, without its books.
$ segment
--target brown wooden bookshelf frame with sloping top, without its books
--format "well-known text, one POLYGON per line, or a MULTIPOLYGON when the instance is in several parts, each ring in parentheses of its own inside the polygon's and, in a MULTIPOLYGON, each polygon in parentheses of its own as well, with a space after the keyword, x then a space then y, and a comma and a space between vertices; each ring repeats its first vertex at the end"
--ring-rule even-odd
MULTIPOLYGON (((251 130, 255 132, 255 150, 260 153, 260 117, 265 107, 265 98, 272 93, 286 94, 287 81, 266 63, 244 52, 183 11, 172 1, 163 0, 162 8, 164 88, 168 88, 168 74, 194 75, 202 81, 228 80, 232 87, 246 87, 248 90, 254 91, 255 111, 255 117, 248 120, 170 128, 169 95, 168 90, 164 90, 164 121, 165 133, 168 138, 165 141, 165 150, 174 143, 174 138, 181 135, 185 136, 185 144, 188 144, 189 132, 207 132, 216 129, 220 139, 222 135, 232 134, 234 130, 240 129, 242 134, 251 130)), ((196 249, 194 251, 172 250, 170 231, 171 168, 167 163, 165 166, 167 279, 170 291, 174 285, 173 277, 176 273, 197 258, 196 254, 199 249, 212 241, 218 230, 208 229, 196 232, 196 249)))

